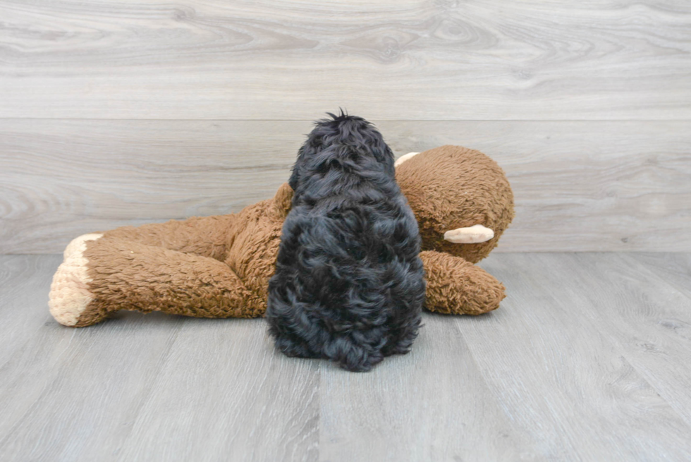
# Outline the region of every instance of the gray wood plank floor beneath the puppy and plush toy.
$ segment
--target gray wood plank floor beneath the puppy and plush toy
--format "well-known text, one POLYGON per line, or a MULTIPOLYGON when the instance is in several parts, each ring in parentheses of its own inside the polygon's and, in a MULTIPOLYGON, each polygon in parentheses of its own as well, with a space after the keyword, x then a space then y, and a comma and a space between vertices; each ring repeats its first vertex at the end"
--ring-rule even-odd
POLYGON ((690 254, 494 254, 499 310, 367 374, 263 320, 61 327, 59 260, 0 257, 1 461, 691 460, 690 254))

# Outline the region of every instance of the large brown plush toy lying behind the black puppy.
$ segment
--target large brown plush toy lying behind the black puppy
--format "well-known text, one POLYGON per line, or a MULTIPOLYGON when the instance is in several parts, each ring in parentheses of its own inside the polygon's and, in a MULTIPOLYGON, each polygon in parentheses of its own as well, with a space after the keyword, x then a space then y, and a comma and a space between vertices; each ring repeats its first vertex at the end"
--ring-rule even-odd
MULTIPOLYGON (((425 308, 479 315, 499 306, 503 286, 473 265, 513 219, 503 171, 482 152, 442 146, 396 162, 415 212, 427 279, 425 308)), ((259 317, 293 190, 238 214, 122 228, 75 238, 51 284, 49 307, 85 327, 118 310, 194 317, 259 317)))

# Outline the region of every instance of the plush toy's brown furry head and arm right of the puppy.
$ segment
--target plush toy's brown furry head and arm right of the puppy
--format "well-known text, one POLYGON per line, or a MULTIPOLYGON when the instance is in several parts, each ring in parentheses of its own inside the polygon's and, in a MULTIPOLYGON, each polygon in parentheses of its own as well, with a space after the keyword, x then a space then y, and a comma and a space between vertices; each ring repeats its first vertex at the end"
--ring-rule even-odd
POLYGON ((499 165, 482 152, 446 145, 398 166, 396 181, 420 226, 425 308, 467 315, 499 308, 504 286, 472 265, 489 255, 513 219, 513 192, 499 165), (446 231, 475 224, 494 230, 494 238, 475 244, 444 241, 446 231))

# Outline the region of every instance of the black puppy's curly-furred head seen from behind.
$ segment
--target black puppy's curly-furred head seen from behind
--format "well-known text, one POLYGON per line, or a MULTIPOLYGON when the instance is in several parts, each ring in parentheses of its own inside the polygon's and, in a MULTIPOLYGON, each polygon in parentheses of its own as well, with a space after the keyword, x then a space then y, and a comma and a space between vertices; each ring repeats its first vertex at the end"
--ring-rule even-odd
MULTIPOLYGON (((393 152, 381 133, 362 117, 329 113, 314 123, 314 129, 298 151, 288 181, 296 194, 307 183, 335 179, 339 174, 393 178, 393 152), (334 178, 329 178, 332 176, 334 178)), ((312 186, 314 186, 312 184, 312 186)))

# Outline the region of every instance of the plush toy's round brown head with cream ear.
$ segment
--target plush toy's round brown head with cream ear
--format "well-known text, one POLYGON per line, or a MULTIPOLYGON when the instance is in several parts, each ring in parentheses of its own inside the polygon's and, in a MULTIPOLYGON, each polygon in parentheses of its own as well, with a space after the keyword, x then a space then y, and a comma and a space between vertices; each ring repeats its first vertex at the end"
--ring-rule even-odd
POLYGON ((422 250, 476 263, 513 219, 506 175, 482 152, 441 146, 398 159, 396 180, 415 212, 422 250))

